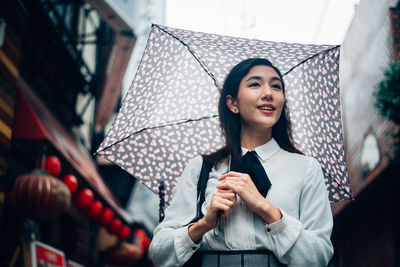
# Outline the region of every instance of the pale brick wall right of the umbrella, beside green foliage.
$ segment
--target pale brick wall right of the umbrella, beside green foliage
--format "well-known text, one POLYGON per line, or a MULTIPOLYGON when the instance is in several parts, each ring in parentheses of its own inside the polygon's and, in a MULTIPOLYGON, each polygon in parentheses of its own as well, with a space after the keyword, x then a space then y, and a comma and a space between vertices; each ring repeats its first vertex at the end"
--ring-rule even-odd
MULTIPOLYGON (((393 58, 391 6, 393 0, 361 0, 341 48, 340 85, 346 161, 355 196, 387 166, 386 152, 390 150, 391 142, 388 132, 393 131, 394 125, 378 115, 373 92, 393 58), (363 177, 361 148, 370 132, 378 139, 382 161, 369 177, 363 177)), ((333 205, 334 214, 344 203, 333 205)))

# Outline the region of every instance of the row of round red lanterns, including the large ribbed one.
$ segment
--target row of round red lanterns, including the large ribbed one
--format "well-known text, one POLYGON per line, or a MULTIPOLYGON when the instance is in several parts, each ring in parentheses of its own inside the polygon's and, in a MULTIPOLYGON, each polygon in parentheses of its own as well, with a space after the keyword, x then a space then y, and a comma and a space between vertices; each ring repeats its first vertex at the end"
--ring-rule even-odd
POLYGON ((85 187, 78 190, 79 182, 73 174, 56 178, 61 172, 58 157, 42 157, 39 165, 40 170, 21 175, 14 184, 11 202, 17 212, 30 217, 56 216, 69 208, 72 198, 75 206, 83 210, 89 218, 97 220, 120 240, 127 240, 131 236, 131 228, 124 225, 110 208, 103 207, 101 201, 95 199, 92 190, 85 187), (51 187, 43 186, 44 184, 50 184, 51 187), (58 190, 52 190, 54 188, 58 190), (43 198, 51 201, 47 201, 47 205, 34 206, 35 203, 42 203, 43 198))

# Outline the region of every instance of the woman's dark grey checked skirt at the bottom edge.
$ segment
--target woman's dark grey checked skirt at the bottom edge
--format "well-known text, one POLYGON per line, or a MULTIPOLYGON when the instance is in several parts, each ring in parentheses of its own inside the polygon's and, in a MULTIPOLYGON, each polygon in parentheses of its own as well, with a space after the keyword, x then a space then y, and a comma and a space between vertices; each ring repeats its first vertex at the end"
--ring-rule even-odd
POLYGON ((282 267, 269 250, 202 251, 202 267, 282 267))

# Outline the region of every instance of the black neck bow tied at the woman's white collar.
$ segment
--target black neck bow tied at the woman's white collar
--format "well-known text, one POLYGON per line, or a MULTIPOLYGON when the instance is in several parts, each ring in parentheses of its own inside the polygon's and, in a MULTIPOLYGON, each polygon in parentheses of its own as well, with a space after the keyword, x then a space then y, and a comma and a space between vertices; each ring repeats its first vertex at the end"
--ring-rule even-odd
POLYGON ((271 182, 257 158, 257 153, 255 151, 248 151, 240 158, 238 168, 239 172, 250 175, 251 180, 258 189, 258 192, 260 192, 262 196, 266 197, 268 190, 271 187, 271 182))

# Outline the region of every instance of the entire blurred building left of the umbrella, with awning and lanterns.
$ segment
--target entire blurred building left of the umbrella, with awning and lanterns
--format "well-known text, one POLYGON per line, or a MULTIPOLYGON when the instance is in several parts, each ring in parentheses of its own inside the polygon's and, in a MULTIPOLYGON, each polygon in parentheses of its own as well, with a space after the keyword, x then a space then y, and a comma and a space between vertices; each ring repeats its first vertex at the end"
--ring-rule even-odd
POLYGON ((49 262, 59 251, 76 266, 150 265, 151 232, 125 209, 135 180, 92 154, 147 2, 1 1, 1 266, 32 266, 44 247, 49 262), (33 172, 43 168, 61 171, 33 172))

